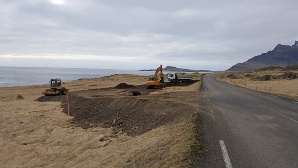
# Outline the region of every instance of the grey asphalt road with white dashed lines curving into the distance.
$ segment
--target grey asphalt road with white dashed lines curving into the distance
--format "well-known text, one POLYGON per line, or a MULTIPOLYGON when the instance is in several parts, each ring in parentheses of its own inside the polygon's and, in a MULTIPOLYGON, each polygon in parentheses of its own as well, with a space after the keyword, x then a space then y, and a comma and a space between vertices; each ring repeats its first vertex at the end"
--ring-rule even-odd
POLYGON ((298 101, 202 80, 201 167, 298 168, 298 101))

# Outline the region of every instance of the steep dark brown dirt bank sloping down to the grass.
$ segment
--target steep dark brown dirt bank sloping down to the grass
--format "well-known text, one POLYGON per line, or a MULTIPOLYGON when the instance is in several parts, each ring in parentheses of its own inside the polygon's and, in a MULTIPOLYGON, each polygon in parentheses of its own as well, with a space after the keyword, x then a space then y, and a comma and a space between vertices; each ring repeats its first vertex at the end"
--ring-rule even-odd
MULTIPOLYGON (((73 123, 84 129, 112 127, 115 133, 140 135, 153 128, 188 118, 196 110, 182 103, 133 97, 71 97, 73 123)), ((66 104, 63 103, 64 109, 66 104)), ((65 110, 66 111, 66 110, 65 110)))

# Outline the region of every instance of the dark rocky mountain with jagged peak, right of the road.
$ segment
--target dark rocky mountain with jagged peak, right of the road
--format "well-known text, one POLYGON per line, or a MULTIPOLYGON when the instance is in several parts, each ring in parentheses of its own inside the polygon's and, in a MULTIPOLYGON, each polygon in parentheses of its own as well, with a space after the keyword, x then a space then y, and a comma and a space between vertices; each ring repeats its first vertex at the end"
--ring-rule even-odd
POLYGON ((298 41, 293 46, 278 44, 273 50, 233 65, 227 71, 254 71, 264 67, 286 67, 294 64, 298 64, 298 41))

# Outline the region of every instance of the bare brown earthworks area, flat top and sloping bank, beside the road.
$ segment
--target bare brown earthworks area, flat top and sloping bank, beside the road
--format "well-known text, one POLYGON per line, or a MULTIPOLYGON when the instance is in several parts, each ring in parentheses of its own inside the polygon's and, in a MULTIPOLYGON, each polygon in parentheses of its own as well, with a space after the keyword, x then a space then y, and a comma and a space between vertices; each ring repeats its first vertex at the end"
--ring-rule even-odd
MULTIPOLYGON (((164 83, 163 87, 188 86, 191 83, 164 83)), ((106 127, 128 135, 141 135, 153 128, 189 118, 197 113, 195 96, 191 91, 168 92, 159 96, 153 92, 162 89, 146 89, 146 85, 118 84, 115 87, 70 92, 70 115, 74 126, 84 129, 106 127), (133 96, 133 91, 141 92, 133 96), (150 94, 151 93, 151 94, 150 94), (185 102, 183 101, 185 100, 185 102)), ((41 96, 38 101, 61 101, 64 112, 68 111, 65 96, 41 96)))

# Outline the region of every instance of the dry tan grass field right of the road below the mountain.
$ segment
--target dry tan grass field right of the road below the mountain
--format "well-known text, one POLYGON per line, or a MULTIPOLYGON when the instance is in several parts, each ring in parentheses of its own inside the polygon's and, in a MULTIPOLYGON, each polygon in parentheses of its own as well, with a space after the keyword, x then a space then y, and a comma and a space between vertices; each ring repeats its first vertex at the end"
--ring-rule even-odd
MULTIPOLYGON (((249 78, 244 77, 246 74, 251 75, 283 75, 286 71, 281 70, 270 70, 270 71, 260 71, 260 72, 248 72, 248 73, 238 73, 239 77, 243 77, 243 79, 229 79, 220 77, 217 78, 220 81, 223 81, 228 84, 234 84, 241 87, 246 87, 253 90, 275 93, 284 95, 285 97, 291 97, 294 99, 298 99, 298 79, 277 79, 271 81, 257 81, 250 80, 249 78)), ((289 71, 287 71, 289 72, 289 71)), ((297 71, 292 71, 294 73, 298 73, 297 71)))

